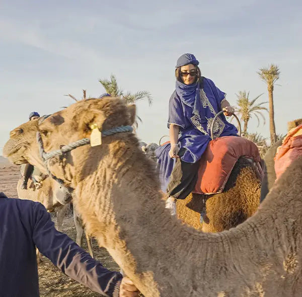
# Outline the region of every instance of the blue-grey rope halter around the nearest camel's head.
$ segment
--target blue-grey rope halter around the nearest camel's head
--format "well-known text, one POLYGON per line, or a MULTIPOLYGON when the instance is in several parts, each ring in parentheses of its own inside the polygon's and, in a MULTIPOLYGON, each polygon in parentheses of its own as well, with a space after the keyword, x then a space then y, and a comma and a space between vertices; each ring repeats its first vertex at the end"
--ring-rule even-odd
MULTIPOLYGON (((133 128, 131 126, 120 126, 120 127, 116 127, 116 128, 112 128, 112 129, 102 131, 102 137, 114 135, 114 134, 117 134, 117 133, 132 132, 132 131, 133 131, 133 128)), ((51 151, 49 153, 46 153, 44 151, 44 144, 43 144, 41 133, 39 131, 37 132, 37 142, 38 142, 38 145, 39 145, 40 156, 41 156, 41 159, 43 160, 44 165, 46 167, 47 174, 49 176, 51 176, 54 180, 56 180, 58 183, 63 185, 63 180, 60 179, 60 178, 57 178, 55 175, 53 175, 50 172, 50 170, 48 168, 47 161, 51 158, 56 157, 56 156, 63 156, 65 153, 74 150, 74 148, 89 144, 90 143, 90 138, 83 138, 83 139, 71 142, 69 144, 63 145, 60 148, 60 150, 54 150, 54 151, 51 151)), ((68 191, 71 191, 71 192, 73 190, 72 188, 69 188, 69 187, 67 189, 68 189, 68 191)))

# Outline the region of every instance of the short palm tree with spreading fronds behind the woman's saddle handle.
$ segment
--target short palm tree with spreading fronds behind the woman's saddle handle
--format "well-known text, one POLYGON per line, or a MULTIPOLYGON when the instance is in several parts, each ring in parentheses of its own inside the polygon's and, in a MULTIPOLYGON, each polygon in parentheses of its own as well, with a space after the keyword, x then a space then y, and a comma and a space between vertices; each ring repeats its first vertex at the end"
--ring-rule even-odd
POLYGON ((262 111, 263 110, 268 111, 266 107, 261 106, 267 102, 261 102, 256 104, 257 99, 263 94, 258 95, 256 98, 254 98, 251 101, 249 100, 249 95, 250 92, 247 93, 246 91, 239 91, 239 94, 236 94, 238 98, 236 111, 240 113, 241 120, 244 122, 244 127, 243 127, 244 135, 247 134, 248 122, 252 118, 252 116, 254 115, 257 118, 258 126, 259 126, 260 124, 259 116, 262 117, 263 122, 265 124, 265 117, 263 116, 262 111))

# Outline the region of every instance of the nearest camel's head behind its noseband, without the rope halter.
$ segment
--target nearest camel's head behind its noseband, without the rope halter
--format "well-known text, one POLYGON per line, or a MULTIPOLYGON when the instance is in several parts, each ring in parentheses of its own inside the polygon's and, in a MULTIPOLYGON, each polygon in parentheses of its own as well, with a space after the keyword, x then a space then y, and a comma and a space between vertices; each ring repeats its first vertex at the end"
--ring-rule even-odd
MULTIPOLYGON (((90 138, 92 125, 100 131, 120 126, 131 126, 135 121, 135 106, 126 105, 120 98, 86 99, 56 112, 38 125, 45 152, 59 150, 63 145, 90 138)), ((120 133, 123 134, 123 133, 120 133)), ((47 161, 48 169, 68 187, 75 188, 77 178, 83 166, 95 157, 108 153, 108 138, 122 137, 119 134, 102 137, 102 145, 91 147, 90 144, 75 148, 63 156, 56 156, 47 161)), ((126 136, 128 137, 128 136, 126 136)), ((133 137, 132 137, 133 138, 133 137)), ((136 139, 136 138, 135 138, 136 139)), ((137 142, 137 139, 136 139, 137 142)), ((136 145, 138 145, 136 143, 136 145)), ((38 154, 38 151, 35 151, 38 154)), ((81 179, 81 177, 80 177, 81 179)))

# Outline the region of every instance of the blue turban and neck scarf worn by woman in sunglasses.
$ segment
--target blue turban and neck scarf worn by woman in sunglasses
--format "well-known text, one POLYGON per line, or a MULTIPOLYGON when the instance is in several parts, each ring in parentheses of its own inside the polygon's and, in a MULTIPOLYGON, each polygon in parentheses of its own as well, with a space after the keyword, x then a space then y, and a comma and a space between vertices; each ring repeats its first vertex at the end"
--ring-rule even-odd
MULTIPOLYGON (((181 55, 176 63, 176 68, 193 64, 197 66, 199 64, 198 60, 196 60, 195 56, 193 54, 183 54, 181 55)), ((192 85, 186 85, 182 82, 179 82, 176 80, 176 94, 180 98, 180 100, 193 108, 193 114, 200 117, 200 100, 199 100, 199 81, 192 84, 192 85)))

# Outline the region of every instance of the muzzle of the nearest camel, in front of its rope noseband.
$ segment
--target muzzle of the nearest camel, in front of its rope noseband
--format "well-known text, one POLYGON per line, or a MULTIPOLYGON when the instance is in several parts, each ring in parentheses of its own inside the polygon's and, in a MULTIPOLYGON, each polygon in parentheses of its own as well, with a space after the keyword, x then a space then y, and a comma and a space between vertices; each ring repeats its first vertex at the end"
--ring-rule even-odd
POLYGON ((39 148, 36 141, 40 119, 28 121, 10 133, 10 139, 3 148, 3 155, 16 164, 30 163, 45 173, 43 163, 37 154, 39 148), (35 152, 35 153, 34 153, 35 152))

